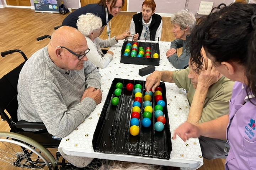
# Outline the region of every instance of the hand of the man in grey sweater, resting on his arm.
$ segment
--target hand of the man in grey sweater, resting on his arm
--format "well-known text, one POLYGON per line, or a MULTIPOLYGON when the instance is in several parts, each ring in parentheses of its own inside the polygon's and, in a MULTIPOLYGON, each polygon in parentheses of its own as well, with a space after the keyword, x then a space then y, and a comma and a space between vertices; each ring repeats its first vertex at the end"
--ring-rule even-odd
POLYGON ((102 100, 102 92, 101 92, 100 89, 95 89, 94 87, 88 87, 84 91, 84 94, 82 95, 81 101, 85 97, 91 97, 96 102, 96 104, 99 104, 102 100))

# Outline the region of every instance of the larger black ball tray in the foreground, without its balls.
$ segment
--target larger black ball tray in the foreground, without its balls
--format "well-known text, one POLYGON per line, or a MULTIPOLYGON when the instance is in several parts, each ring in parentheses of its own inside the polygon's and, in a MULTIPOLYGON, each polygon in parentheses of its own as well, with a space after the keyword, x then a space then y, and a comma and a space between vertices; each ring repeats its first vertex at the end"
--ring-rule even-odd
MULTIPOLYGON (((166 118, 165 128, 163 131, 158 132, 154 130, 154 124, 156 122, 154 114, 152 114, 151 126, 148 128, 142 126, 141 120, 144 112, 142 104, 139 135, 130 135, 130 116, 132 112, 134 94, 133 91, 128 91, 126 89, 126 85, 128 83, 132 83, 133 85, 141 84, 144 96, 145 81, 117 78, 112 81, 92 139, 94 151, 101 153, 129 154, 151 158, 170 159, 171 132, 167 106, 164 107, 163 110, 164 117, 166 118), (116 84, 119 82, 123 84, 123 88, 121 95, 119 96, 118 105, 114 106, 112 105, 111 100, 115 97, 114 90, 116 90, 116 84)), ((163 89, 162 97, 163 100, 166 101, 165 84, 160 83, 159 86, 163 89)), ((152 106, 154 109, 154 97, 152 99, 152 106)))

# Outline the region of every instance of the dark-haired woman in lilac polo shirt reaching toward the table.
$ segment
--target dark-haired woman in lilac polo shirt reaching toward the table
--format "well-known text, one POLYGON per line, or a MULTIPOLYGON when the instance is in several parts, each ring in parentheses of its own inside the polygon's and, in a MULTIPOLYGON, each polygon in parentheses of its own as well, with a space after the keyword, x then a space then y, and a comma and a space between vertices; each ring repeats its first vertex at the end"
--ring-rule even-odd
MULTIPOLYGON (((227 138, 230 150, 225 169, 256 169, 256 4, 223 7, 199 19, 191 35, 193 62, 206 69, 200 53, 204 47, 212 66, 237 82, 229 115, 198 125, 184 123, 174 131, 174 138, 227 138)), ((211 68, 207 68, 209 73, 211 68)))

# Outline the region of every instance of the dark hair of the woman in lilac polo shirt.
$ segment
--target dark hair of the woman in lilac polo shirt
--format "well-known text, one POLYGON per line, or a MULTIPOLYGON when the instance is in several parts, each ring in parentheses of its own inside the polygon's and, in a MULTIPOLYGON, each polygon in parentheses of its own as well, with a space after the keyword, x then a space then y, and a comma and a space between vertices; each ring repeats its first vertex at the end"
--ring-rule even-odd
POLYGON ((191 62, 198 69, 203 66, 202 47, 214 57, 215 66, 224 61, 244 66, 247 95, 251 90, 256 96, 256 4, 220 5, 207 17, 199 18, 188 44, 191 62))

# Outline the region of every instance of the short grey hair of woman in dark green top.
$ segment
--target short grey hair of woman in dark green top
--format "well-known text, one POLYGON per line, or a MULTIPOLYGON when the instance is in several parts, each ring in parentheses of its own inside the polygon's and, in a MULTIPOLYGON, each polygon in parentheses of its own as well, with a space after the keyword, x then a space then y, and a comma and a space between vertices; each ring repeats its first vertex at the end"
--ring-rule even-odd
POLYGON ((171 17, 171 23, 178 24, 181 27, 181 30, 188 27, 188 31, 191 33, 192 29, 196 25, 196 18, 193 13, 181 10, 174 13, 174 17, 171 17))

